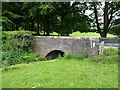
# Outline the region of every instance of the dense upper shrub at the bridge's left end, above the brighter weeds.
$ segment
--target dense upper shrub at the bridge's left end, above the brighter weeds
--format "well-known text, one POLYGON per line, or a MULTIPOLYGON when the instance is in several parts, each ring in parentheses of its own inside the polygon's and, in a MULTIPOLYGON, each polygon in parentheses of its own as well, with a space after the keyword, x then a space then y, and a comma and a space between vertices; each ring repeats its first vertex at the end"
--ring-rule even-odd
POLYGON ((32 42, 34 41, 31 32, 14 31, 14 32, 2 32, 3 50, 12 50, 21 48, 29 51, 32 42))

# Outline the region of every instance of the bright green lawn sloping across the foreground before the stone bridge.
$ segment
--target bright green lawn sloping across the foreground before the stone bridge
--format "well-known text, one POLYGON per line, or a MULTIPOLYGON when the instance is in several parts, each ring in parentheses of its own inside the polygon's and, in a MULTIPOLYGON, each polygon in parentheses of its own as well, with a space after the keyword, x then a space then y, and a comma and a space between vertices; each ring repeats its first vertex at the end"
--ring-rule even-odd
POLYGON ((3 88, 116 88, 118 65, 60 58, 11 66, 2 79, 3 88))

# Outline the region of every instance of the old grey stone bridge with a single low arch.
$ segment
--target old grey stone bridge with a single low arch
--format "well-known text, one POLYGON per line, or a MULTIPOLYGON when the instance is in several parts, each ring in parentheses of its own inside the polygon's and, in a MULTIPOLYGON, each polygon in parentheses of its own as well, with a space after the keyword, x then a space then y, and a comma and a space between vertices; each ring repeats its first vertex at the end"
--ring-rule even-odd
POLYGON ((86 53, 87 57, 98 55, 99 38, 35 36, 34 52, 48 59, 54 59, 64 53, 86 53))

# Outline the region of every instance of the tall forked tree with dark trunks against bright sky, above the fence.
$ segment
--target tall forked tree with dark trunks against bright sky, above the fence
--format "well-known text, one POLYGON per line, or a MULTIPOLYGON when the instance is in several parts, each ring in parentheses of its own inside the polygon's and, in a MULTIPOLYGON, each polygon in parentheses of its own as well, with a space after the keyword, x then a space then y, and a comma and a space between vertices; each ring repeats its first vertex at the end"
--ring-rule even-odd
POLYGON ((112 27, 114 20, 117 17, 117 13, 120 11, 120 2, 105 2, 104 5, 100 2, 92 2, 89 4, 90 10, 94 11, 94 13, 91 15, 94 14, 95 16, 94 18, 97 32, 101 37, 107 37, 107 33, 112 27), (100 9, 103 11, 103 13, 99 12, 100 9), (100 22, 101 16, 103 16, 103 22, 100 22))

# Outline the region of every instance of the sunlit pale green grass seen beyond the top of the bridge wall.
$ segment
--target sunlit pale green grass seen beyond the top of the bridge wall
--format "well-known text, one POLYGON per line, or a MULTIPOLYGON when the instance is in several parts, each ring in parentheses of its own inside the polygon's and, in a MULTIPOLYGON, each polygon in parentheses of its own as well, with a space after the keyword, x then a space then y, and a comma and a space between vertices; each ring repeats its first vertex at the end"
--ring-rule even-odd
MULTIPOLYGON (((58 34, 56 32, 53 32, 50 35, 58 35, 58 34)), ((100 37, 100 34, 92 33, 92 32, 88 32, 88 33, 74 32, 74 33, 70 34, 70 36, 73 36, 73 37, 100 37)), ((112 35, 112 34, 107 34, 107 37, 118 37, 118 36, 112 35)))

